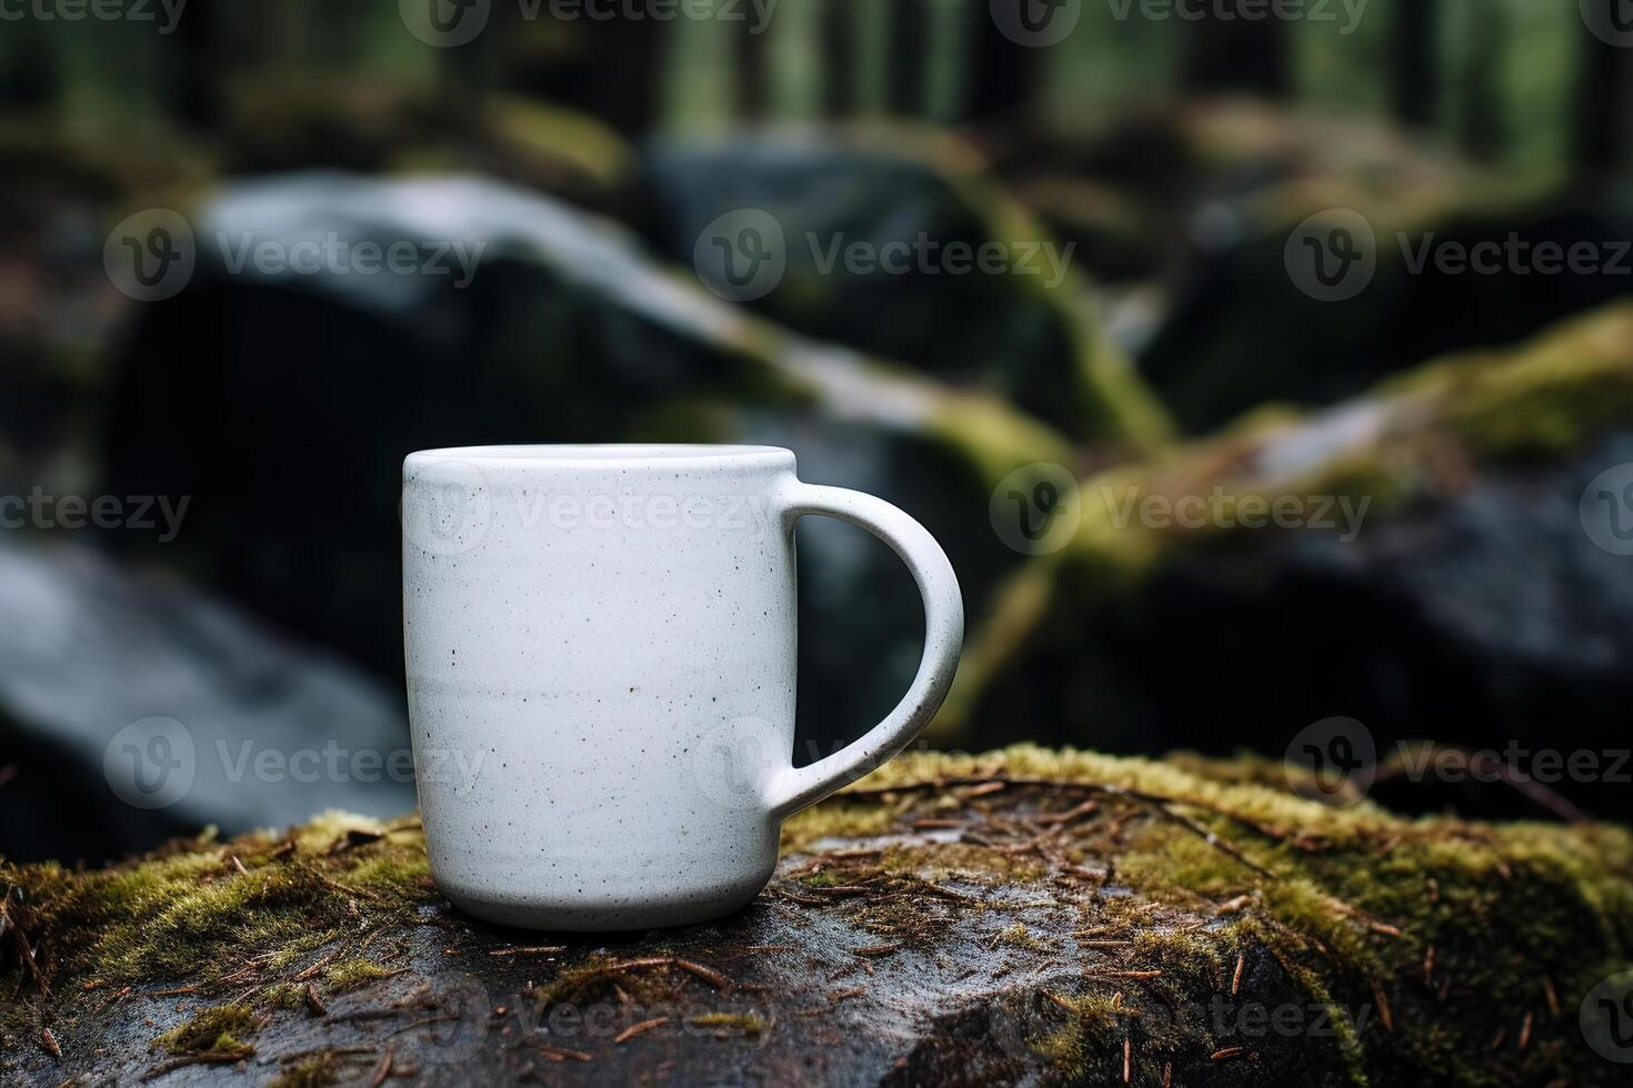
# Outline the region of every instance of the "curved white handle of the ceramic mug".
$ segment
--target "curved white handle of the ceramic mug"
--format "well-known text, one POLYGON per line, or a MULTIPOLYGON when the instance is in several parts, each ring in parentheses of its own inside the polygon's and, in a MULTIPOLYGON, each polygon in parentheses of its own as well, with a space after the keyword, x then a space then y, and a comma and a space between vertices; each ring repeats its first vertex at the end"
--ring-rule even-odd
POLYGON ((913 742, 952 687, 963 644, 963 595, 947 553, 916 520, 861 491, 821 488, 799 480, 781 493, 787 530, 807 514, 859 525, 901 556, 924 599, 924 656, 897 708, 861 739, 808 767, 785 767, 769 783, 771 812, 784 819, 856 781, 913 742))

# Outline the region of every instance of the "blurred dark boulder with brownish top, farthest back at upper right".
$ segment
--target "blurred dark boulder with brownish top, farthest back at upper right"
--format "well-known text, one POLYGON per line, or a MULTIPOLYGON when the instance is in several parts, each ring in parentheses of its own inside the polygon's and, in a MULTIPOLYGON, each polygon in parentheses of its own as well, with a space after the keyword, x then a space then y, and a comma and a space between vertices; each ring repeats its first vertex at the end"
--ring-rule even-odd
POLYGON ((1491 171, 1386 122, 1228 101, 1084 127, 1014 148, 999 173, 1086 268, 1159 295, 1133 295, 1117 323, 1192 434, 1267 400, 1331 405, 1633 294, 1622 194, 1491 171), (1336 228, 1373 263, 1341 263, 1336 228))

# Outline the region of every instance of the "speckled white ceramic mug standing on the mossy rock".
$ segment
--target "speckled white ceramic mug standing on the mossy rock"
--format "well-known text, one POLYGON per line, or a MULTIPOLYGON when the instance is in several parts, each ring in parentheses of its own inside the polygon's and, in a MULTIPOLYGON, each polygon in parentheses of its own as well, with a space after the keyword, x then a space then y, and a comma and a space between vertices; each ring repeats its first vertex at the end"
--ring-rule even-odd
POLYGON ((428 450, 403 465, 402 517, 431 871, 492 922, 632 930, 743 907, 784 817, 906 747, 959 662, 963 605, 931 535, 888 502, 800 483, 789 450, 428 450), (924 656, 888 718, 794 768, 805 514, 906 561, 924 656))

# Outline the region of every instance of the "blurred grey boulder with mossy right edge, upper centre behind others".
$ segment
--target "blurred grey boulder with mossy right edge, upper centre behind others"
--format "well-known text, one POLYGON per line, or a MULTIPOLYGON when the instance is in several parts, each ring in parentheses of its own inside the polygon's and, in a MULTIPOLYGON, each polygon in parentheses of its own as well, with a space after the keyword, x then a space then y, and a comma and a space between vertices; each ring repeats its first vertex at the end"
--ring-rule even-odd
POLYGON ((665 140, 642 179, 645 233, 678 263, 702 253, 710 274, 720 223, 769 215, 753 222, 776 235, 781 277, 748 303, 787 328, 993 391, 1075 439, 1146 449, 1168 434, 1092 315, 1075 248, 952 134, 665 140))

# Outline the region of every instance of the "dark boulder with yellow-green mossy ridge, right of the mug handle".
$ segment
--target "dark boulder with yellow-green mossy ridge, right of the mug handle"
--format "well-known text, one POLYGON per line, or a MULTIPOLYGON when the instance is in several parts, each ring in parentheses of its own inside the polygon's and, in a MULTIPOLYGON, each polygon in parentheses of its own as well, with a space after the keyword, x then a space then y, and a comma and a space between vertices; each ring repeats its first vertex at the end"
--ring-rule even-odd
MULTIPOLYGON (((1050 723, 1110 750, 1279 757, 1347 716, 1380 762, 1404 741, 1514 742, 1501 765, 1625 812, 1628 511, 1622 484, 1597 486, 1609 504, 1589 484, 1633 463, 1630 432, 1618 305, 1088 476, 1060 548, 1009 579, 972 638, 939 736, 1050 723), (1546 770, 1542 750, 1592 767, 1546 770)), ((1419 803, 1445 801, 1447 776, 1414 776, 1419 803)), ((1519 796, 1458 778, 1476 801, 1519 796)))

